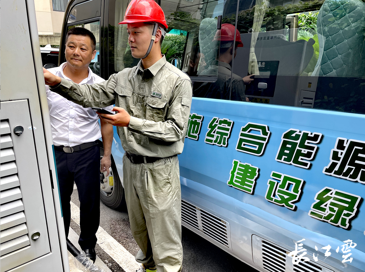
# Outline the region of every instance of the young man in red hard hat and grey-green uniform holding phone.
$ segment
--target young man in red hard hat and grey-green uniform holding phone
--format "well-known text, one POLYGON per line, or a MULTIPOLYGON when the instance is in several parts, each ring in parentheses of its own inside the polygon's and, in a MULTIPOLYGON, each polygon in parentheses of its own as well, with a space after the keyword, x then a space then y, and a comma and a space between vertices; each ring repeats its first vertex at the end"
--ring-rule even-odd
POLYGON ((118 113, 100 116, 118 126, 126 151, 123 184, 132 234, 140 247, 139 271, 179 272, 183 249, 177 154, 184 147, 191 81, 161 55, 168 26, 155 1, 133 0, 121 23, 127 24, 132 56, 141 58, 136 67, 100 84, 77 85, 46 71, 45 81, 53 86, 50 90, 84 107, 115 103, 118 113))

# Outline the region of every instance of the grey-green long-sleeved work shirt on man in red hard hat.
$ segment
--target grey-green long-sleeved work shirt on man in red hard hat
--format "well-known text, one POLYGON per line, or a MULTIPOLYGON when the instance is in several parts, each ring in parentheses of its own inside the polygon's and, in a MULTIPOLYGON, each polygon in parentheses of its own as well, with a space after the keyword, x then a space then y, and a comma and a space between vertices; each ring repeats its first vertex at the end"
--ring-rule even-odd
POLYGON ((85 108, 115 104, 125 109, 130 123, 117 129, 130 154, 164 158, 183 151, 192 84, 165 56, 148 69, 140 61, 102 83, 79 85, 62 78, 50 90, 85 108))

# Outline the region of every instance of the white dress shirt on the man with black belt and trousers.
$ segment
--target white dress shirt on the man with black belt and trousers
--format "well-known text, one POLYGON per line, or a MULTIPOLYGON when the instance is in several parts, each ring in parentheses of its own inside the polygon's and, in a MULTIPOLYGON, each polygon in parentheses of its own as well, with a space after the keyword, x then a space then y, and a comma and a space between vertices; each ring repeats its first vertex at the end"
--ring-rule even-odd
MULTIPOLYGON (((64 75, 63 69, 67 62, 59 67, 50 68, 52 74, 70 80, 64 75)), ((104 79, 94 74, 89 68, 89 75, 80 84, 103 82, 104 79)), ((101 137, 99 116, 91 108, 83 108, 74 102, 68 101, 49 90, 46 85, 47 101, 51 119, 51 129, 54 145, 73 147, 78 144, 95 141, 101 137)), ((113 106, 104 109, 111 111, 113 106)))

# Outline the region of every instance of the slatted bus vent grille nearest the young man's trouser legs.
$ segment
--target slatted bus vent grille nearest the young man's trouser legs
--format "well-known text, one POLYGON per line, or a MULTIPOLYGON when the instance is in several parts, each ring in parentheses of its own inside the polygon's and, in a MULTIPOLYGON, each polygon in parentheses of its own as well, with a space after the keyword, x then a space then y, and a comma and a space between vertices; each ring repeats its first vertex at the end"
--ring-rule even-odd
POLYGON ((181 199, 182 224, 214 244, 231 249, 229 223, 181 199))

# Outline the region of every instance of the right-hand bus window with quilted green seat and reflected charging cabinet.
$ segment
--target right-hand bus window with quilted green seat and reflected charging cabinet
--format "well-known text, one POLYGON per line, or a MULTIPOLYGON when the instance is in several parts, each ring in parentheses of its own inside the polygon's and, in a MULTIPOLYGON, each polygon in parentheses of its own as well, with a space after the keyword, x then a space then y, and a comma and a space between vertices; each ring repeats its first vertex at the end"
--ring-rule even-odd
POLYGON ((364 15, 360 0, 240 1, 233 73, 254 74, 251 102, 365 113, 364 15))

